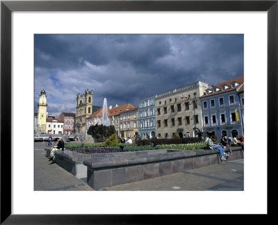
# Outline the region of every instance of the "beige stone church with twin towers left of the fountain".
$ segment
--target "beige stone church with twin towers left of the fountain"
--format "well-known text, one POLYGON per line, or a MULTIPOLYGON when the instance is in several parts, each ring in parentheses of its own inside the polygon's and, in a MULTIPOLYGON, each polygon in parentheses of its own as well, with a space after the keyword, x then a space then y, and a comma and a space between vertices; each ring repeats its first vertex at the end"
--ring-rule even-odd
POLYGON ((86 118, 92 115, 92 94, 92 90, 85 90, 76 96, 75 133, 86 133, 86 118))

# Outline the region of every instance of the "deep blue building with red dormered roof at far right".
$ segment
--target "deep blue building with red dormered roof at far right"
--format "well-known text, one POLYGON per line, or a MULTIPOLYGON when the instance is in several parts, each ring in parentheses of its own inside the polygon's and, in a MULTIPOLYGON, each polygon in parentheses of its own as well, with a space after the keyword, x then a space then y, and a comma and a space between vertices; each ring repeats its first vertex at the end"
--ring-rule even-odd
POLYGON ((200 98, 204 133, 234 138, 243 135, 244 77, 218 83, 200 98))

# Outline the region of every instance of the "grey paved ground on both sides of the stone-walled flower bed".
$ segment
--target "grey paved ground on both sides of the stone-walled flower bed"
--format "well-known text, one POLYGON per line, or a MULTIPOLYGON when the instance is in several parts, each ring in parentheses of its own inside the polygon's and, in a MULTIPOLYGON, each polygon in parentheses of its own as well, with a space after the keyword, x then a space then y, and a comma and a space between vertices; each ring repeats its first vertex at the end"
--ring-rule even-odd
MULTIPOLYGON (((95 191, 85 181, 76 178, 56 163, 45 157, 45 142, 35 142, 35 187, 34 190, 81 190, 95 191)), ((190 190, 244 190, 244 160, 234 160, 221 164, 190 169, 167 176, 151 178, 101 188, 103 191, 190 191, 190 190)))

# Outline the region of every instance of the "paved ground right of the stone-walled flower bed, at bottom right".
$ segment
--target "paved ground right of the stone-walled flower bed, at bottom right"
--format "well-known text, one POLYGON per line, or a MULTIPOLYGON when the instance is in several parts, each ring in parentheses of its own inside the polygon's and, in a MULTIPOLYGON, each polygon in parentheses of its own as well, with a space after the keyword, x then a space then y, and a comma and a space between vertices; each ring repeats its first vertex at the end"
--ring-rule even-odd
POLYGON ((170 174, 137 181, 101 190, 159 190, 159 191, 198 191, 198 190, 244 190, 243 160, 234 160, 186 172, 170 174))

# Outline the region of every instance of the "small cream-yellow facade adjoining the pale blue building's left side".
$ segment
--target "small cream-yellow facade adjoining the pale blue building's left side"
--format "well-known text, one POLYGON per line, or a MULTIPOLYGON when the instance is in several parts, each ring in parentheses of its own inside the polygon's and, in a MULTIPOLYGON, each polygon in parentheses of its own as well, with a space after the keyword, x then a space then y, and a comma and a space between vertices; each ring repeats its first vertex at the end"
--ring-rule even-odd
POLYGON ((138 107, 120 113, 120 138, 138 138, 138 107))

